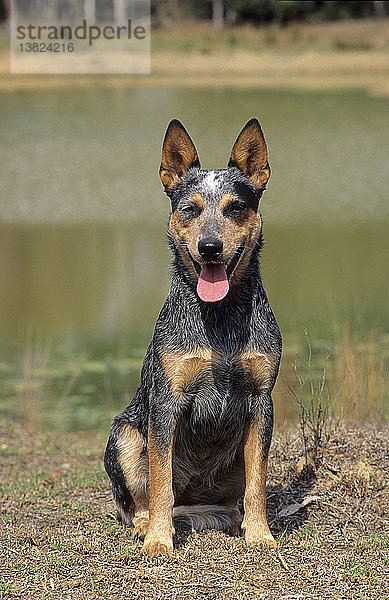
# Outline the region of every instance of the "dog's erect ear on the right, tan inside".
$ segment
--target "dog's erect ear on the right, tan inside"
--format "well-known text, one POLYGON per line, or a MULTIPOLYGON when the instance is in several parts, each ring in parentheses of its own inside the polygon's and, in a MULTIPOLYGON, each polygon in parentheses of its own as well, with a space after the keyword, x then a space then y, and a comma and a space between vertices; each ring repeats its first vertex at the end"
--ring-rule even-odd
POLYGON ((232 148, 229 167, 238 167, 255 187, 261 189, 270 177, 267 148, 258 119, 251 119, 243 127, 232 148))

